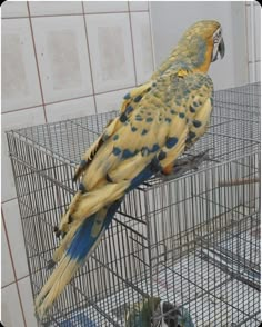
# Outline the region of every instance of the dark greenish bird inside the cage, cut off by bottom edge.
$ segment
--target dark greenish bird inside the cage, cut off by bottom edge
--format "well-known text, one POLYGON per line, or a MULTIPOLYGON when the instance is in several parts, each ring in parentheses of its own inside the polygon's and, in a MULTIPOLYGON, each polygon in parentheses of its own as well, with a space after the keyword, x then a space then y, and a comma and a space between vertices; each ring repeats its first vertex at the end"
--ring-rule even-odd
POLYGON ((150 297, 131 306, 124 327, 194 327, 194 324, 187 308, 150 297))

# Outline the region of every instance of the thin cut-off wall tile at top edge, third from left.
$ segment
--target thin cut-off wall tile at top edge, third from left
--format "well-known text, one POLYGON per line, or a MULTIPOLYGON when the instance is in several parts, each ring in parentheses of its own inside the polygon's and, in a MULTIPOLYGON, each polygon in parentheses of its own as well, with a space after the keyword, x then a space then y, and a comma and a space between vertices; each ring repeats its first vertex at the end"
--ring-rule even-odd
POLYGON ((128 1, 83 1, 85 13, 128 11, 128 1))

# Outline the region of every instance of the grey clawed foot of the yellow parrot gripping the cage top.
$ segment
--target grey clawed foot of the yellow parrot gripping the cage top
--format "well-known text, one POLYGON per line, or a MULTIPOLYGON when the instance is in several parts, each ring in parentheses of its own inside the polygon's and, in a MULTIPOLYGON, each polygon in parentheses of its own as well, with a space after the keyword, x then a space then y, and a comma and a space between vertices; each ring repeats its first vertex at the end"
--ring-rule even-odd
POLYGON ((204 150, 195 156, 193 155, 187 155, 187 158, 178 159, 174 162, 173 170, 170 175, 159 174, 158 177, 160 177, 163 181, 171 180, 174 178, 179 178, 189 170, 198 170, 200 165, 204 161, 214 161, 210 158, 208 152, 211 149, 204 150))

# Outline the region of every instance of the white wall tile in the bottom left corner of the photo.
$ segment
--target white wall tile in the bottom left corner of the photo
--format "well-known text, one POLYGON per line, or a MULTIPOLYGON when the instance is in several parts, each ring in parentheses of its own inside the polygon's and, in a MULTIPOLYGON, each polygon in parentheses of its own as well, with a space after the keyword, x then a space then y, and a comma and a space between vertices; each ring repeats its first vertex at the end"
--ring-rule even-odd
POLYGON ((26 327, 16 284, 1 289, 1 323, 8 327, 26 327))

